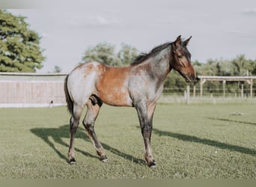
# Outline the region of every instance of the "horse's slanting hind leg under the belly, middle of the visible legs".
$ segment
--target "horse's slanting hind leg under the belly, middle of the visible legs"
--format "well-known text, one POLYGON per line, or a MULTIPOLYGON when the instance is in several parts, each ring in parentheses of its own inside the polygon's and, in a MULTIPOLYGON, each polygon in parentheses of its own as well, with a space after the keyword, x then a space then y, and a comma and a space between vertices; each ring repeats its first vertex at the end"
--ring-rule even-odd
MULTIPOLYGON (((95 99, 95 98, 94 98, 95 99)), ((97 154, 100 156, 100 160, 102 162, 106 162, 108 158, 103 151, 103 146, 98 141, 97 136, 94 132, 94 122, 99 114, 100 106, 102 105, 101 102, 95 103, 94 100, 89 99, 87 103, 87 112, 85 115, 85 119, 83 120, 83 125, 88 132, 88 135, 96 148, 97 154)))

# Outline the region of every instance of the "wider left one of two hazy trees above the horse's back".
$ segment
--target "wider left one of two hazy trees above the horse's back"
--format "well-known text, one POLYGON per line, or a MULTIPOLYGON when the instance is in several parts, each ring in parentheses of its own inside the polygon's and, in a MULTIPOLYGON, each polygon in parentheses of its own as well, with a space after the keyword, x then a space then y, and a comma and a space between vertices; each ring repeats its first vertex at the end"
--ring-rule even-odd
POLYGON ((120 66, 121 60, 115 55, 115 46, 109 43, 99 43, 85 51, 82 58, 85 62, 98 61, 111 66, 120 66))

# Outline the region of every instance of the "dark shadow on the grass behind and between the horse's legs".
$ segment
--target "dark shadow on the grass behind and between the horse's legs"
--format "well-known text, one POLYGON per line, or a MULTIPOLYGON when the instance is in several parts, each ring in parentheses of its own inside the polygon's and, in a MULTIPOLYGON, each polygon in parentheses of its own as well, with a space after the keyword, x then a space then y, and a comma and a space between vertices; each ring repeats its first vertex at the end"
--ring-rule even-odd
MULTIPOLYGON (((65 143, 61 140, 61 138, 69 138, 69 125, 60 126, 59 128, 34 128, 30 129, 30 131, 37 135, 37 137, 41 138, 43 141, 46 142, 46 144, 49 145, 49 147, 52 147, 52 149, 55 151, 55 153, 58 154, 58 156, 61 159, 64 159, 68 162, 67 154, 61 153, 56 147, 55 143, 61 144, 64 147, 69 147, 69 144, 65 143), (54 140, 54 142, 50 141, 50 138, 54 140)), ((82 131, 81 128, 78 128, 76 131, 76 138, 84 139, 85 141, 90 141, 90 138, 88 138, 88 135, 86 135, 85 131, 82 131)), ((91 141, 90 141, 91 142, 91 141)), ((134 156, 131 156, 127 153, 122 153, 120 150, 115 149, 114 147, 110 147, 108 144, 101 143, 105 150, 109 150, 111 153, 114 153, 115 155, 124 157, 125 159, 132 160, 132 162, 137 164, 144 164, 143 159, 136 159, 134 156)), ((82 153, 85 156, 89 156, 91 158, 100 159, 98 156, 94 156, 91 153, 87 153, 83 150, 79 150, 75 148, 76 152, 82 153)), ((96 153, 96 151, 95 151, 96 153)))

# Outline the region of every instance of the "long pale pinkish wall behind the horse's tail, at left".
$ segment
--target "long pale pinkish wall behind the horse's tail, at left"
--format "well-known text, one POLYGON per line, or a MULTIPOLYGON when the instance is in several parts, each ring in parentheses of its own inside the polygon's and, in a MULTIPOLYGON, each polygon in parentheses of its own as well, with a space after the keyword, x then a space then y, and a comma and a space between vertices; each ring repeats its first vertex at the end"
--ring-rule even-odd
POLYGON ((0 73, 0 107, 65 105, 61 73, 0 73))

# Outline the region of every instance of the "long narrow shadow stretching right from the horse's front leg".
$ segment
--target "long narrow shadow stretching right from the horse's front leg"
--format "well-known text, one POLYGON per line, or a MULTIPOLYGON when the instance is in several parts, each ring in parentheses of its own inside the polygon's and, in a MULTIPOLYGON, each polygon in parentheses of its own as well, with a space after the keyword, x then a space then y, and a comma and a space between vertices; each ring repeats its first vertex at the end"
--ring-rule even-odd
POLYGON ((159 129, 153 129, 153 132, 159 136, 162 136, 162 135, 169 136, 172 138, 178 138, 182 141, 191 141, 191 142, 196 142, 196 143, 200 143, 200 144, 206 144, 206 145, 210 145, 210 146, 214 146, 214 147, 219 147, 220 149, 223 149, 223 150, 237 151, 237 152, 249 154, 252 156, 256 155, 256 150, 249 149, 246 147, 240 147, 240 146, 232 145, 232 144, 225 144, 225 143, 222 143, 219 141, 213 141, 213 140, 206 139, 206 138, 198 138, 196 136, 183 135, 183 134, 174 133, 174 132, 165 132, 165 131, 160 131, 159 129))

